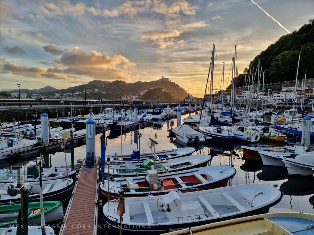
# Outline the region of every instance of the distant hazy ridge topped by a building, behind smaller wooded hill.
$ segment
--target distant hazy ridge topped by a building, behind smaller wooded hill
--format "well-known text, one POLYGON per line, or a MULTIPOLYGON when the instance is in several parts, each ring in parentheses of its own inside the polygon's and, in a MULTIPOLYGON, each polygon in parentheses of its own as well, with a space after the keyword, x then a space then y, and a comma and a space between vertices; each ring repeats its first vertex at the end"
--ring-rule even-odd
MULTIPOLYGON (((84 90, 89 90, 86 94, 86 98, 104 98, 104 99, 120 99, 120 92, 122 97, 127 95, 134 95, 137 98, 142 99, 142 93, 148 91, 149 89, 153 89, 156 87, 162 87, 168 92, 170 92, 171 96, 177 100, 184 99, 186 96, 190 94, 187 93, 182 87, 180 87, 175 82, 167 81, 167 80, 157 80, 157 81, 149 81, 149 82, 142 82, 137 81, 133 83, 127 83, 125 81, 116 80, 116 81, 99 81, 94 80, 87 84, 79 85, 79 86, 72 86, 67 89, 62 89, 57 91, 59 94, 65 93, 73 93, 77 91, 81 91, 81 94, 76 95, 77 97, 84 97, 84 90), (95 89, 98 91, 95 92, 95 89), (146 90, 146 91, 145 91, 146 90)), ((191 95, 190 95, 191 96, 191 95)), ((146 99, 144 95, 144 99, 146 99)), ((168 96, 169 100, 169 96, 168 96)))

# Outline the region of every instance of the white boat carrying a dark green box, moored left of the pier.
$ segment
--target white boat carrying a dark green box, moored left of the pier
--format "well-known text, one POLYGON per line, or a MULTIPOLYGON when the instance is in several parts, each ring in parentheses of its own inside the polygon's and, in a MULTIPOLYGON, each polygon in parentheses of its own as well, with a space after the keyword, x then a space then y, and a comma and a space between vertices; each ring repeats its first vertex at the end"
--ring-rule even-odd
MULTIPOLYGON (((68 177, 73 178, 76 176, 76 170, 69 170, 65 167, 55 167, 55 168, 44 168, 43 175, 41 175, 42 180, 57 180, 65 179, 68 177)), ((21 170, 21 174, 24 178, 24 182, 32 182, 39 180, 39 170, 37 165, 30 165, 25 170, 21 170)), ((17 170, 7 169, 0 170, 0 183, 13 183, 17 180, 17 170)))

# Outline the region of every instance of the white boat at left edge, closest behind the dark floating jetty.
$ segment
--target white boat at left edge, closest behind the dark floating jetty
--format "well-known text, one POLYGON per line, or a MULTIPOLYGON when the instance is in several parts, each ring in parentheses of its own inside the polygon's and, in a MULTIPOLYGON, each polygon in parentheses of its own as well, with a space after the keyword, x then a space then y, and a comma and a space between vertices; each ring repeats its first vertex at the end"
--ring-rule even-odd
POLYGON ((31 149, 38 143, 37 139, 11 137, 0 143, 0 160, 9 158, 11 153, 31 149))

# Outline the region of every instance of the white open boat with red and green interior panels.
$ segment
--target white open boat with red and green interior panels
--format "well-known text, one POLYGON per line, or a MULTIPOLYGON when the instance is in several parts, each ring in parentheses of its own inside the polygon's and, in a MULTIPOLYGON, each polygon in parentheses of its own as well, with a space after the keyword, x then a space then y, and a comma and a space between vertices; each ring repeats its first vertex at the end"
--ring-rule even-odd
MULTIPOLYGON (((190 192, 224 187, 235 174, 236 169, 226 165, 206 166, 165 174, 158 174, 156 170, 148 170, 146 176, 111 179, 109 196, 110 199, 119 198, 121 184, 122 189, 125 190, 124 197, 163 195, 173 190, 190 192)), ((100 194, 104 198, 108 198, 107 180, 100 185, 100 194)))

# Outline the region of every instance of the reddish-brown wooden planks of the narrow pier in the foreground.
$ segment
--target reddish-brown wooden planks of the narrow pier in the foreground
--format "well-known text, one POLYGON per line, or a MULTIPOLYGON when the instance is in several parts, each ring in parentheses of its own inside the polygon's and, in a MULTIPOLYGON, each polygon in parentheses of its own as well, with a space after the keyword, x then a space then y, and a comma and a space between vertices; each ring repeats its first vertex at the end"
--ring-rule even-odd
POLYGON ((93 235, 97 218, 97 168, 84 166, 79 175, 72 202, 69 204, 62 235, 93 235))

